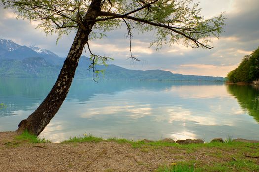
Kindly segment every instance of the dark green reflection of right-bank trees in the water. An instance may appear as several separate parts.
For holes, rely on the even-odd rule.
[[[259,90],[252,86],[228,85],[227,90],[237,98],[242,108],[259,122]]]

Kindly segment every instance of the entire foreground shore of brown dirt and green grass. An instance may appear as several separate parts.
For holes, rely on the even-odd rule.
[[[166,172],[163,169],[174,167],[192,167],[195,172],[259,171],[259,141],[246,139],[180,144],[170,139],[133,142],[88,135],[50,143],[16,136],[0,132],[0,171]]]

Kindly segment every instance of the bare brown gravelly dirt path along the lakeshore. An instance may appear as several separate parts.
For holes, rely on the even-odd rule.
[[[235,150],[202,148],[195,152],[177,147],[143,146],[115,142],[12,143],[14,132],[0,132],[0,172],[151,172],[161,164],[198,160],[231,161]],[[209,156],[213,153],[226,156]]]

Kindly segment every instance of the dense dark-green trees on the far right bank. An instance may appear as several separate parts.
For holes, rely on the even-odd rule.
[[[227,74],[230,82],[250,83],[259,78],[259,47],[250,55],[244,56],[239,66]]]

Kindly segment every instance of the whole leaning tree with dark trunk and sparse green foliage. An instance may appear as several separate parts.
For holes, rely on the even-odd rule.
[[[154,31],[156,39],[151,45],[157,49],[163,44],[182,41],[186,46],[213,48],[213,37],[218,38],[224,25],[220,14],[204,19],[198,4],[192,0],[1,0],[18,17],[39,21],[37,28],[47,34],[63,34],[76,30],[74,42],[60,71],[56,83],[39,107],[18,125],[18,131],[28,130],[39,135],[59,110],[69,91],[79,58],[87,45],[93,72],[95,65],[109,59],[92,53],[90,40],[102,38],[106,31],[125,25],[129,38],[130,57],[132,29],[140,33]],[[57,39],[57,40],[58,40]]]

